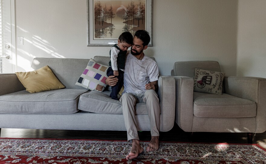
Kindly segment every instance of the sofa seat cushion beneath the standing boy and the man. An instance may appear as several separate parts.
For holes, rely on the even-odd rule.
[[[121,102],[111,99],[109,95],[109,91],[97,92],[92,90],[83,93],[79,98],[78,109],[99,114],[123,114]],[[135,108],[136,114],[148,114],[146,103],[137,103]]]

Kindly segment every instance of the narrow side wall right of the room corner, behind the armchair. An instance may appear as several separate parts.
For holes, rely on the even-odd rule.
[[[266,78],[266,1],[238,3],[237,75]]]

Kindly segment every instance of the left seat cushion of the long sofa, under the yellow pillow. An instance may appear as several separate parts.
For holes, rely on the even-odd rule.
[[[0,113],[76,113],[78,99],[86,89],[58,89],[29,93],[22,90],[0,96]]]

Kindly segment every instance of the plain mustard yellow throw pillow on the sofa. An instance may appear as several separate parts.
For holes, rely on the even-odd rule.
[[[61,89],[65,87],[48,66],[44,66],[38,70],[30,72],[15,72],[15,74],[26,90],[30,93]]]

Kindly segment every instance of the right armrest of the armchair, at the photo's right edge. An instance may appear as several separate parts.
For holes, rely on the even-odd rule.
[[[257,129],[266,130],[266,79],[260,77],[226,76],[223,80],[226,94],[254,101],[257,105]]]

